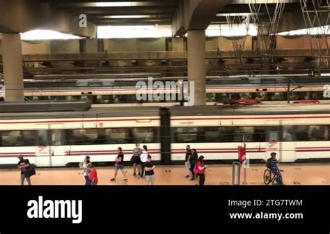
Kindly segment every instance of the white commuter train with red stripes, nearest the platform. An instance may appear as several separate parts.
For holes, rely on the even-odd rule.
[[[88,111],[0,113],[0,164],[17,156],[36,166],[68,166],[90,155],[113,162],[118,146],[125,161],[134,143],[146,144],[154,161],[184,160],[185,146],[206,160],[235,160],[246,141],[246,156],[265,160],[275,151],[281,162],[330,158],[328,104],[256,105],[219,108],[91,108]]]

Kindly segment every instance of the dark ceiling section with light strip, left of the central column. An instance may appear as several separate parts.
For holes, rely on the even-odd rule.
[[[100,25],[172,24],[179,0],[46,0],[52,7],[72,15],[87,15]]]

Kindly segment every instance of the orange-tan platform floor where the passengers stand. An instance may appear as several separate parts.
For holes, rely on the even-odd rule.
[[[330,164],[281,164],[285,185],[330,185]],[[247,169],[248,185],[265,185],[263,173],[265,164],[252,164]],[[205,173],[205,185],[232,185],[232,165],[210,165]],[[84,185],[84,175],[79,168],[36,169],[37,175],[31,179],[33,185]],[[123,182],[123,175],[118,171],[116,182],[111,182],[114,167],[99,167],[97,174],[99,185],[144,185],[139,176],[133,176],[132,166],[126,166],[128,182]],[[196,185],[198,180],[191,181],[182,166],[157,166],[155,170],[156,185]],[[243,183],[243,169],[241,180]],[[19,185],[19,171],[16,169],[0,170],[0,185]]]

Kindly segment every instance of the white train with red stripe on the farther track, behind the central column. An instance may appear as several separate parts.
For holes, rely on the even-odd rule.
[[[100,79],[87,79],[88,77]],[[82,79],[82,77],[86,79]],[[120,106],[157,106],[159,102],[145,100],[136,102],[137,82],[147,78],[121,77],[104,79],[107,75],[41,75],[24,81],[26,100],[86,100],[95,107]],[[78,79],[81,78],[81,79]],[[102,79],[101,79],[102,78]],[[155,77],[153,81],[186,81],[187,77]],[[321,100],[329,102],[324,95],[325,87],[330,82],[329,74],[311,77],[308,74],[285,75],[235,75],[229,77],[211,76],[206,78],[207,104],[226,102],[228,100],[256,99],[263,102],[285,103],[290,81],[290,100]],[[161,88],[157,92],[161,92]],[[155,89],[156,89],[155,88]],[[175,92],[178,93],[177,87]],[[163,90],[164,93],[168,91]],[[163,107],[173,106],[175,102],[162,102]]]

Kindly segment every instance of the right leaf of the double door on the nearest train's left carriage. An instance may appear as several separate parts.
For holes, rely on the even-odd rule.
[[[67,146],[65,146],[65,130],[63,124],[49,125],[49,138],[51,141],[52,165],[65,166]]]

